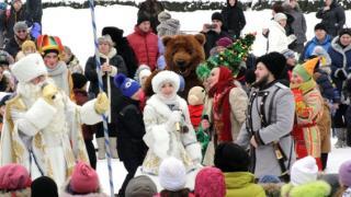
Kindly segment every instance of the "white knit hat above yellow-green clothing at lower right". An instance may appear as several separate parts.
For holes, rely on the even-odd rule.
[[[297,160],[291,172],[291,183],[294,186],[307,184],[317,181],[318,166],[316,159],[308,155],[301,160]]]

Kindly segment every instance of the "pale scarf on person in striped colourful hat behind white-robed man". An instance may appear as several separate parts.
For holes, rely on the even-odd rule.
[[[65,91],[67,96],[70,96],[70,88],[68,80],[68,69],[64,61],[58,61],[54,69],[47,68],[48,77],[50,77],[55,84]]]

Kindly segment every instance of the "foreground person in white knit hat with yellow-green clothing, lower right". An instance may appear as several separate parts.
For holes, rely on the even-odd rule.
[[[282,197],[321,197],[329,196],[330,185],[317,181],[318,166],[313,157],[296,161],[291,170],[291,183],[283,185]]]

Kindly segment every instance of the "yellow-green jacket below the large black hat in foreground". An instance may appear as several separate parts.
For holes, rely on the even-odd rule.
[[[265,197],[262,186],[253,183],[254,176],[249,172],[224,173],[227,197]]]

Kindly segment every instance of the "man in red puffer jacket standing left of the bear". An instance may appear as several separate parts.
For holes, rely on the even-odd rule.
[[[133,48],[138,66],[147,65],[151,71],[156,69],[158,50],[158,36],[152,33],[150,19],[139,15],[134,33],[127,36],[128,43]]]

